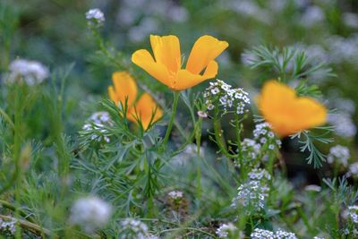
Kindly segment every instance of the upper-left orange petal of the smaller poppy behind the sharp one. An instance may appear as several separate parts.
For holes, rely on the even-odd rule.
[[[115,85],[115,90],[111,90],[110,97],[111,94],[112,96],[115,94],[116,103],[121,101],[123,105],[125,103],[125,98],[128,98],[127,104],[129,107],[132,106],[132,103],[135,101],[138,94],[137,84],[132,76],[127,72],[116,72],[112,74],[112,81]]]

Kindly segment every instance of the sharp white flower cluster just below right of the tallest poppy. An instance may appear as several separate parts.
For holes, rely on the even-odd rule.
[[[204,92],[205,104],[209,110],[215,106],[224,107],[226,113],[227,109],[235,107],[235,112],[239,115],[243,115],[244,107],[250,104],[248,95],[242,88],[232,89],[231,85],[220,80],[210,82],[209,88]]]

